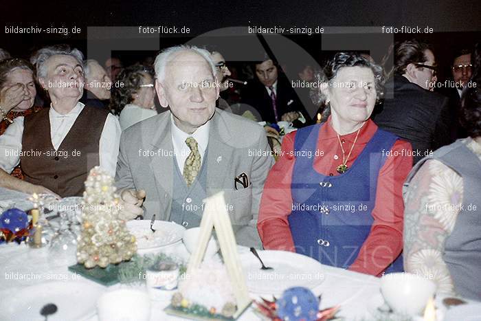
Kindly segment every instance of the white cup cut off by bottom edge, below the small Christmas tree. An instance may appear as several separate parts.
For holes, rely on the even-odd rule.
[[[98,299],[97,314],[99,321],[148,321],[150,298],[136,289],[109,291]]]

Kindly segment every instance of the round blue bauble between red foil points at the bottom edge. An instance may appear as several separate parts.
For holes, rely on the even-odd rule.
[[[310,289],[291,287],[276,302],[277,314],[282,320],[311,321],[317,319],[319,300]]]

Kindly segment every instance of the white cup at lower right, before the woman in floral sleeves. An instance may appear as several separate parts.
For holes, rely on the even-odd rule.
[[[385,274],[381,279],[381,293],[394,312],[420,316],[429,298],[436,293],[436,284],[417,274]]]

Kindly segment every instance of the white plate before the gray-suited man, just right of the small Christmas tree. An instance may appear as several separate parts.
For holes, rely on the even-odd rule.
[[[177,243],[181,241],[183,231],[182,225],[174,222],[155,221],[153,229],[150,230],[150,220],[133,220],[127,222],[128,230],[137,239],[137,250],[153,249]]]

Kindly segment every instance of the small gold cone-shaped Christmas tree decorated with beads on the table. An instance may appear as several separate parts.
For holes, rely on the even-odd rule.
[[[130,260],[137,250],[135,236],[128,232],[126,222],[120,218],[113,178],[98,166],[90,170],[85,181],[82,208],[78,263],[91,268]]]

